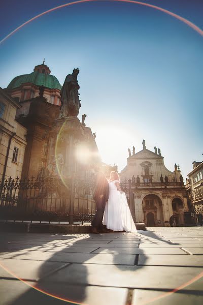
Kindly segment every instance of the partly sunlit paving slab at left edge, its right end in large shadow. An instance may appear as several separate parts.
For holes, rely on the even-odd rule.
[[[40,278],[49,274],[49,272],[56,270],[57,268],[65,265],[61,262],[44,262],[44,261],[31,261],[31,260],[16,260],[16,259],[0,259],[0,276],[6,277],[4,267],[8,271],[14,273],[9,277],[13,278],[17,276],[21,279],[38,281]],[[6,275],[5,275],[6,273]]]

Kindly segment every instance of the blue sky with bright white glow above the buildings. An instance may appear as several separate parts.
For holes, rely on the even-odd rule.
[[[201,0],[142,1],[172,11],[203,29]],[[0,39],[63,0],[1,5]],[[128,147],[160,147],[165,165],[184,178],[201,161],[203,37],[152,8],[116,2],[77,4],[27,24],[0,45],[0,86],[45,64],[62,84],[80,68],[87,126],[104,162],[126,165]]]

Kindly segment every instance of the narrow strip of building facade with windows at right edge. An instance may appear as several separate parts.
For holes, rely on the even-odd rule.
[[[187,192],[196,214],[203,214],[203,162],[193,163],[193,170],[188,174]]]

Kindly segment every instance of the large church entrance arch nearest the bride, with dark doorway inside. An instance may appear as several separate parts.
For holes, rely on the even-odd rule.
[[[163,204],[161,199],[154,194],[143,198],[144,221],[147,227],[164,226]]]

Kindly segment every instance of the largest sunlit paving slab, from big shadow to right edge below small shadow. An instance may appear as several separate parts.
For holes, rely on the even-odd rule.
[[[74,285],[175,289],[201,271],[200,267],[71,264],[44,278],[44,281]]]

